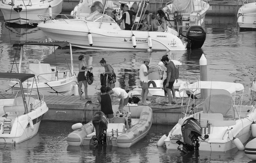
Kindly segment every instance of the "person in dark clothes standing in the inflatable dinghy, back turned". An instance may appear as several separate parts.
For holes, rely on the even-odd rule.
[[[100,110],[104,112],[104,114],[107,116],[109,123],[113,123],[113,109],[112,109],[112,100],[111,96],[106,93],[107,87],[103,85],[100,88],[101,95],[98,96],[98,101],[100,103]]]

